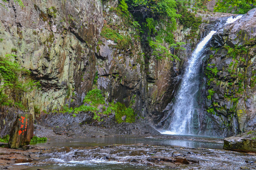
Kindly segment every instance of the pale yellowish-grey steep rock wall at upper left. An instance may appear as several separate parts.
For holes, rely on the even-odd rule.
[[[9,0],[0,7],[0,55],[14,53],[32,72],[41,90],[26,94],[28,110],[53,110],[81,103],[91,90],[98,36],[103,26],[97,0],[24,0],[21,8]]]

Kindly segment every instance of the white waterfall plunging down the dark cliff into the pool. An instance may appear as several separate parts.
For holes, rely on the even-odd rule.
[[[242,16],[237,16],[235,18],[229,17],[225,25],[233,23],[241,17]],[[207,42],[210,41],[212,35],[216,32],[217,31],[210,31],[210,33],[197,45],[191,58],[188,60],[188,65],[185,69],[181,85],[175,97],[174,105],[172,109],[169,110],[172,112],[171,124],[166,131],[161,132],[162,134],[194,134],[193,119],[197,119],[196,121],[199,124],[198,113],[196,113],[196,108],[198,108],[196,95],[200,87],[202,54],[206,50],[205,46]]]

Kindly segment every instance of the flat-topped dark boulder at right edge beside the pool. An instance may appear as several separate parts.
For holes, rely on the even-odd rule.
[[[231,136],[224,139],[223,149],[256,153],[256,140],[246,137]]]

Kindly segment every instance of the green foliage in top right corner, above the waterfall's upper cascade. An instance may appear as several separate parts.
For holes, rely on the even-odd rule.
[[[215,12],[245,14],[255,8],[255,0],[217,0]]]

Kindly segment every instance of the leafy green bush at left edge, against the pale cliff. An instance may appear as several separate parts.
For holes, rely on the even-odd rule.
[[[21,103],[24,93],[31,92],[40,84],[30,78],[30,71],[21,68],[14,58],[14,54],[0,57],[0,106],[18,106],[25,109]],[[14,61],[13,61],[14,60]]]

